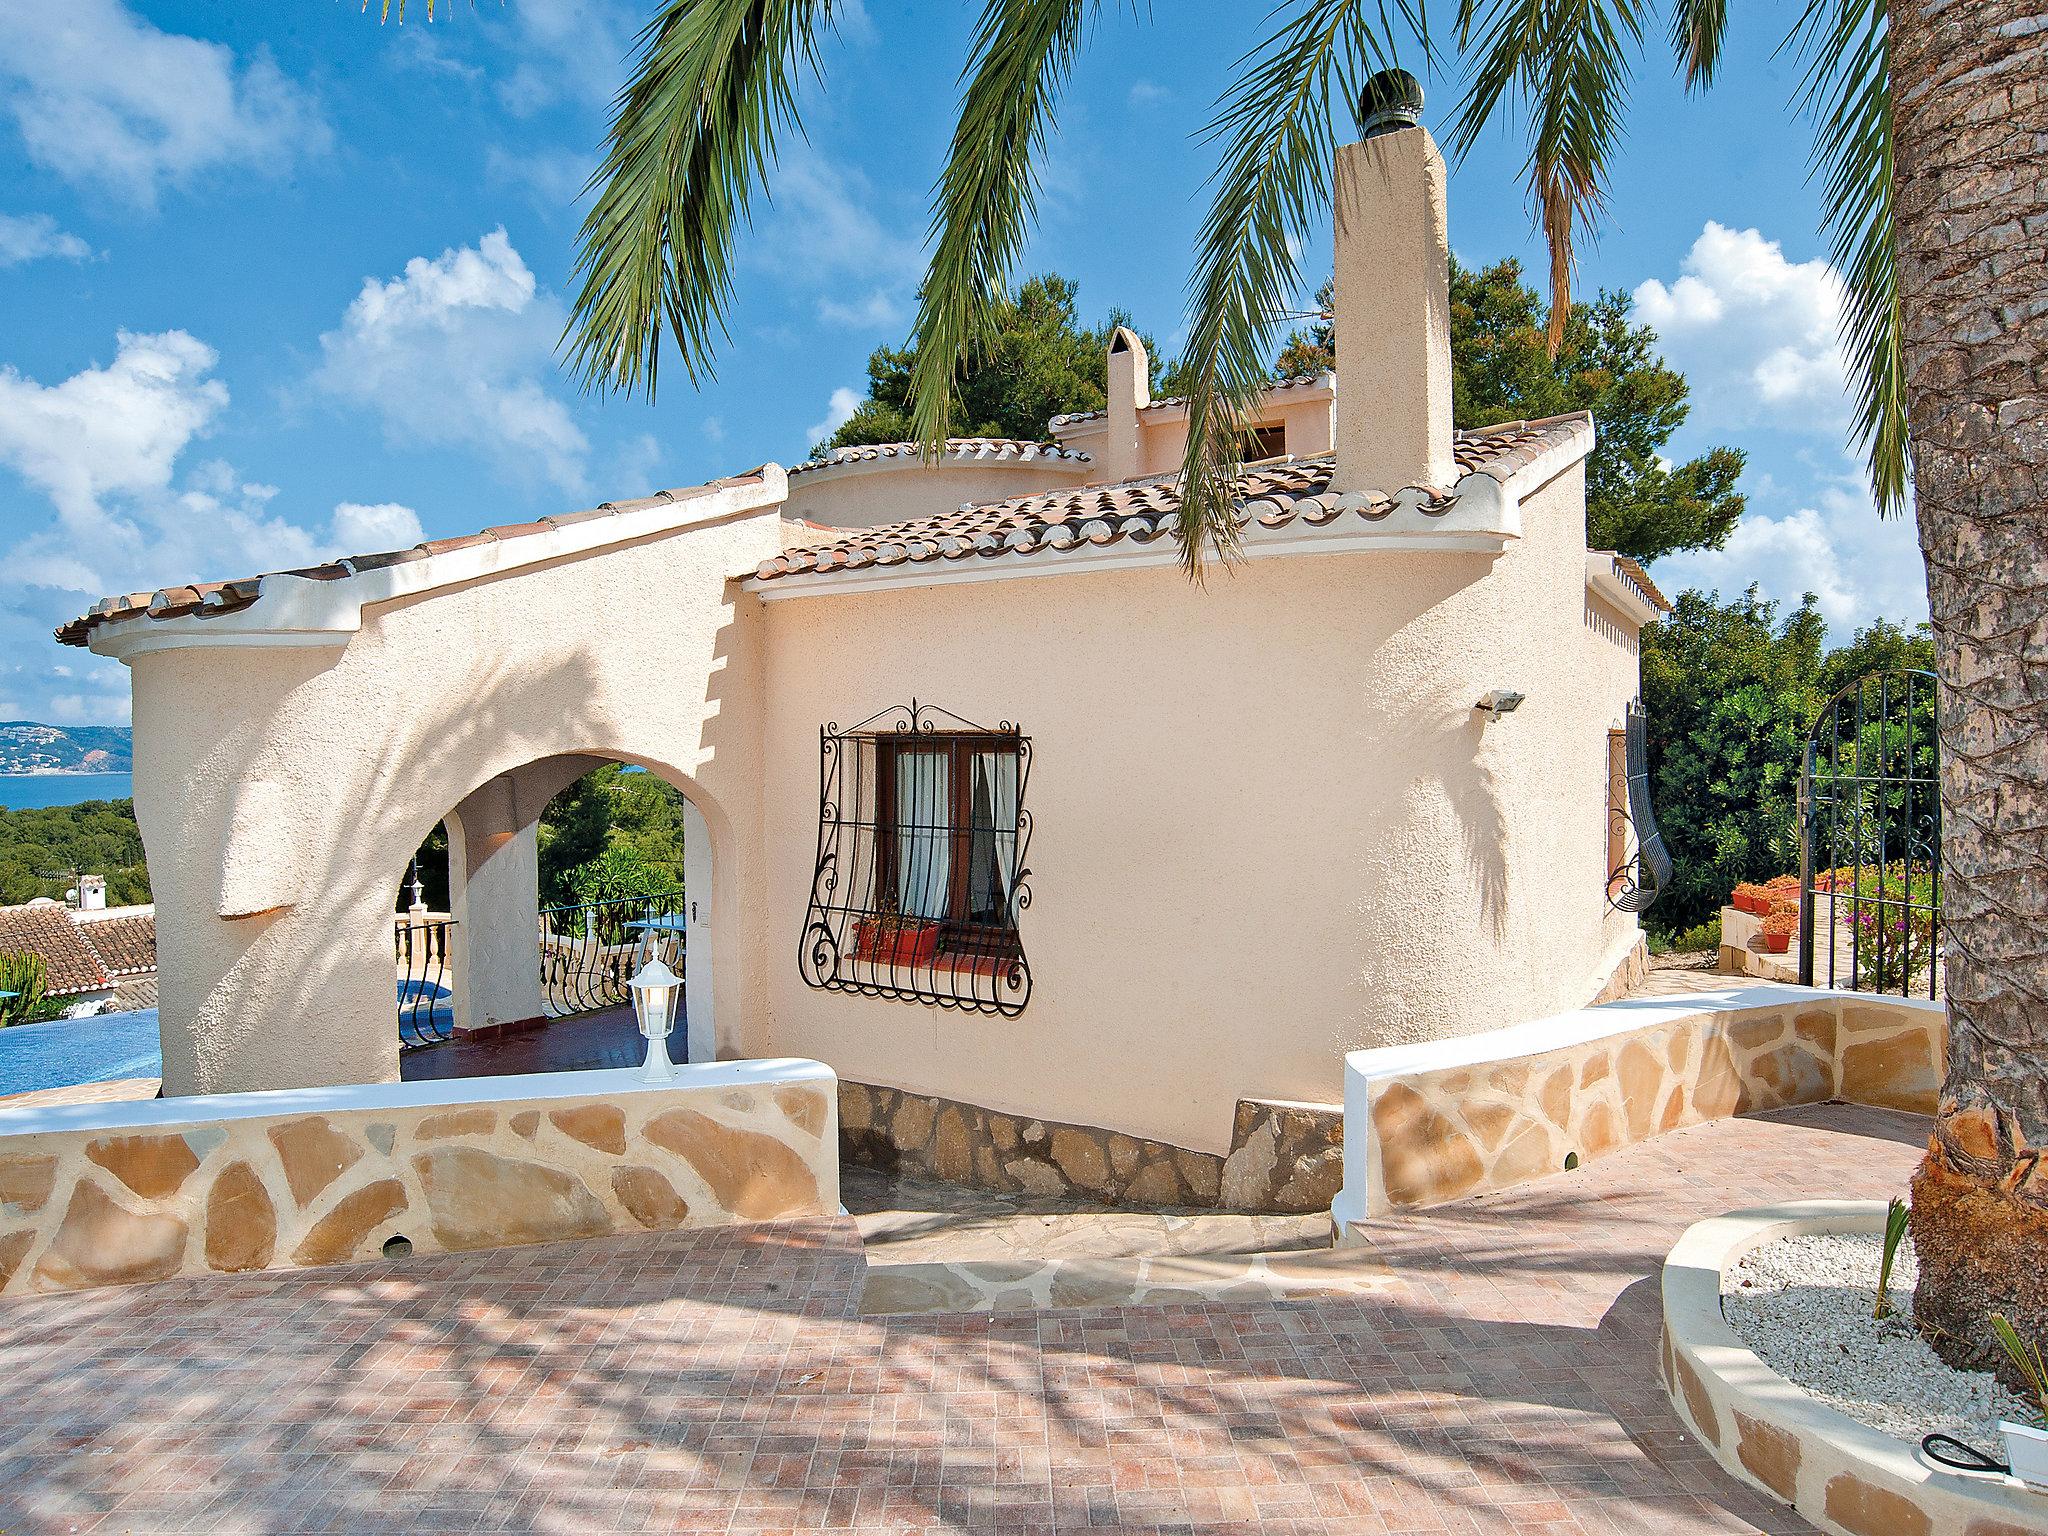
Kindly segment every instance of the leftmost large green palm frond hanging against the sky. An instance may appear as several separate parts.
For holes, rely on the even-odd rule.
[[[831,0],[668,0],[647,23],[578,236],[563,342],[588,387],[651,397],[664,328],[690,379],[711,375],[733,238],[829,20]]]

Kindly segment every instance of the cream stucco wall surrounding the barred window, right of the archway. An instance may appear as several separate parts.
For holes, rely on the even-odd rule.
[[[1206,1151],[1237,1098],[1337,1102],[1343,1055],[1585,1004],[1606,733],[1581,469],[1477,553],[973,582],[766,608],[766,1034],[848,1079]],[[1473,702],[1528,702],[1483,723]],[[1034,741],[1016,1020],[813,991],[817,731],[911,696]]]

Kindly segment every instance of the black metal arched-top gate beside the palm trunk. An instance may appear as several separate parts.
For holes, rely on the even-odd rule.
[[[1931,672],[1874,672],[1821,711],[1800,764],[1798,979],[1942,991],[1942,737]]]

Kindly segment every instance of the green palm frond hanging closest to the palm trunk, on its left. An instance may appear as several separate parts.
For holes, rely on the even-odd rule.
[[[1882,0],[1806,0],[1792,33],[1815,115],[1812,168],[1829,252],[1845,287],[1843,346],[1855,373],[1855,442],[1882,516],[1911,481],[1905,340],[1892,217],[1892,72]]]

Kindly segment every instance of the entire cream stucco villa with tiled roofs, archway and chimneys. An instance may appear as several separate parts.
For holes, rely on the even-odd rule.
[[[455,1026],[541,1016],[537,821],[625,760],[690,805],[692,1061],[825,1061],[858,1145],[946,1178],[1327,1206],[1346,1053],[1640,956],[1624,745],[1665,604],[1585,547],[1587,416],[1452,428],[1444,217],[1427,135],[1339,156],[1337,369],[1268,391],[1202,582],[1186,414],[1118,330],[1108,408],[1049,442],[66,625],[133,674],[164,1092],[395,1079],[391,893],[442,819]],[[1255,1137],[1298,1147],[1225,1190]]]

